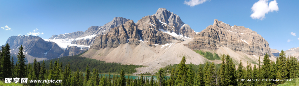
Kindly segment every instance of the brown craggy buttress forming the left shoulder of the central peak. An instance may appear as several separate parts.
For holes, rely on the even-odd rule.
[[[135,23],[129,20],[124,25],[112,28],[107,34],[96,37],[90,49],[116,48],[125,43],[136,46],[140,43],[138,40],[140,37]]]

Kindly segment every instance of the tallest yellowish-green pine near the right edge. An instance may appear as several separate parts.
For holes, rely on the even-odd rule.
[[[277,64],[277,72],[276,72],[276,79],[288,79],[288,70],[286,65],[286,53],[281,50],[279,57],[276,60]],[[283,84],[284,82],[277,81],[277,84]]]

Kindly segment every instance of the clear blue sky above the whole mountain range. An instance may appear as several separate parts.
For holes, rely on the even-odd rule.
[[[184,0],[1,0],[0,44],[4,45],[10,36],[18,34],[48,39],[54,34],[85,31],[90,26],[102,26],[114,17],[137,22],[144,16],[154,14],[158,8],[166,8],[179,15],[196,32],[218,19],[229,25],[244,26],[256,31],[268,41],[270,48],[288,50],[299,47],[299,34],[296,34],[299,33],[299,1],[276,0],[276,5],[271,4],[273,0],[264,0],[265,5],[261,0],[254,6],[258,1],[193,0],[187,4]],[[254,13],[251,8],[254,7],[257,8],[255,12],[262,13],[251,17]],[[264,18],[258,18],[263,16],[263,12],[268,13]]]

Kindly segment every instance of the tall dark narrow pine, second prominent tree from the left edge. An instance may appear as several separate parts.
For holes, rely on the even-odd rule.
[[[26,69],[25,69],[25,55],[24,55],[24,48],[23,46],[21,45],[19,47],[19,52],[18,52],[18,55],[17,55],[17,65],[16,65],[16,77],[25,77],[26,76]]]

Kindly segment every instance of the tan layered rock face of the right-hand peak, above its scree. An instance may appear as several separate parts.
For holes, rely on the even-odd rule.
[[[213,25],[196,34],[193,41],[185,44],[190,49],[217,50],[227,47],[248,55],[273,56],[269,43],[257,32],[243,26],[231,26],[215,19]]]

